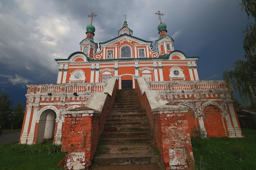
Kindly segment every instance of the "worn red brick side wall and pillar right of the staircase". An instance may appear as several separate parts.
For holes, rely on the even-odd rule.
[[[146,109],[157,148],[161,154],[161,161],[166,170],[170,170],[170,167],[171,169],[190,168],[189,163],[193,163],[194,158],[187,114],[183,111],[153,114],[146,93],[142,95],[137,81],[135,83],[141,106]]]

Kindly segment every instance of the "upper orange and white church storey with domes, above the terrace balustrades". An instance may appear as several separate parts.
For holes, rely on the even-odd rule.
[[[132,35],[126,15],[118,36],[99,43],[94,42],[95,27],[86,27],[86,38],[80,42],[80,52],[70,54],[67,59],[55,59],[59,65],[57,83],[105,83],[118,77],[119,89],[135,88],[135,76],[146,81],[198,81],[196,61],[198,57],[187,57],[174,50],[173,39],[167,35],[166,24],[158,12],[159,39],[155,41],[157,52],[152,50],[152,41]]]

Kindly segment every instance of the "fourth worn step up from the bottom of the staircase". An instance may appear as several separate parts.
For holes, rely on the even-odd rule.
[[[150,137],[150,132],[141,131],[141,132],[108,132],[103,133],[101,137],[106,138],[124,138],[124,137]]]

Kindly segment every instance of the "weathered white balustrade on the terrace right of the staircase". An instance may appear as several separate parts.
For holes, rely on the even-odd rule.
[[[226,90],[225,81],[152,81],[148,83],[152,90],[180,91],[180,90]]]

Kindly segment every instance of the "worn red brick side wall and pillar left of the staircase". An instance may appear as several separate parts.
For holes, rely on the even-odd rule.
[[[93,116],[83,116],[81,113],[72,113],[65,115],[65,122],[63,122],[62,129],[62,148],[66,153],[66,160],[70,157],[76,157],[73,162],[69,164],[79,165],[85,163],[85,166],[90,166],[94,153],[96,152],[98,140],[104,130],[104,123],[108,111],[112,108],[115,100],[115,94],[118,89],[116,81],[112,96],[107,95],[100,115],[94,113]],[[85,111],[86,112],[86,111]],[[85,158],[83,159],[83,153]],[[77,156],[76,156],[77,155]],[[72,160],[71,160],[72,161]]]

